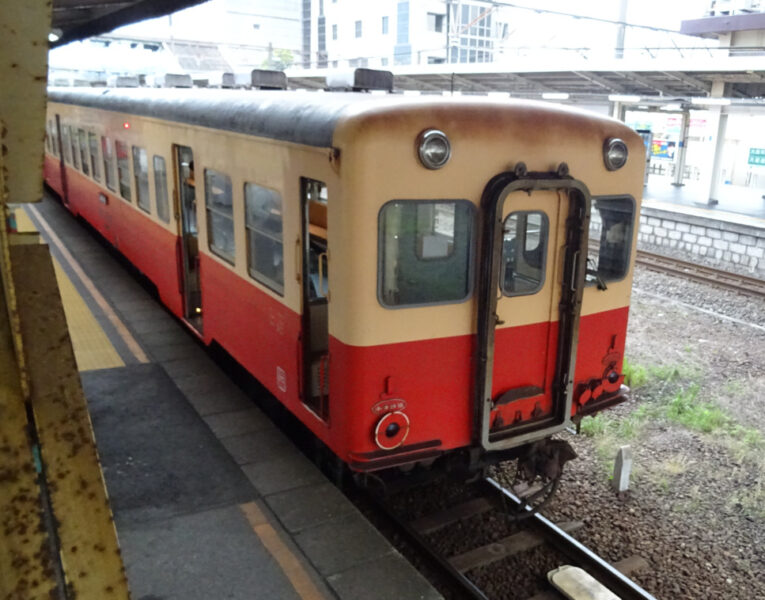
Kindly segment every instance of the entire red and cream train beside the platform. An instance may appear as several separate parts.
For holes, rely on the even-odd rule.
[[[44,179],[352,472],[534,478],[626,397],[643,154],[541,101],[51,88]]]

